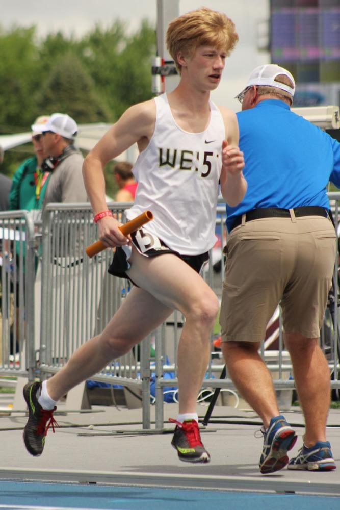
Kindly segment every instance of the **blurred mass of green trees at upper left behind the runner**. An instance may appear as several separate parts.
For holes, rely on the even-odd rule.
[[[108,29],[96,25],[81,39],[58,32],[38,40],[35,27],[5,32],[0,25],[0,134],[29,131],[38,115],[54,111],[79,123],[114,122],[152,97],[155,46],[147,21],[133,34],[119,20]],[[31,155],[32,144],[6,151],[1,171],[12,175]]]

